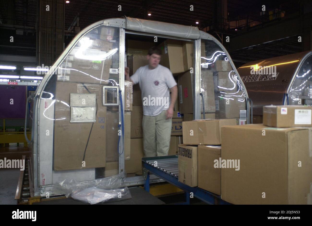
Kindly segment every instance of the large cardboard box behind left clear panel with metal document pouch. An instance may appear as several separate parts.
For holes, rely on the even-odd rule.
[[[88,94],[86,88],[96,94],[96,122],[70,123],[70,94]],[[59,101],[54,104],[54,118],[63,119],[54,120],[54,170],[105,167],[106,106],[102,103],[102,85],[56,82],[55,98]],[[82,166],[82,161],[85,161],[85,166]]]

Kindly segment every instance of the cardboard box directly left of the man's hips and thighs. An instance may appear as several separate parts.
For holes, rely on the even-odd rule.
[[[142,106],[133,106],[131,112],[131,138],[143,137],[142,119],[143,119]]]

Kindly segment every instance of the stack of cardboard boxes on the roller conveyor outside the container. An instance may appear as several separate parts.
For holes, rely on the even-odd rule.
[[[264,124],[219,123],[220,140],[211,137],[216,126],[208,131],[205,123],[183,122],[180,182],[232,204],[312,204],[311,107],[266,106]]]

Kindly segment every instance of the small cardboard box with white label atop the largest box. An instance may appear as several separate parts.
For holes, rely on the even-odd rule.
[[[272,127],[311,127],[312,107],[300,105],[264,106],[263,124]]]

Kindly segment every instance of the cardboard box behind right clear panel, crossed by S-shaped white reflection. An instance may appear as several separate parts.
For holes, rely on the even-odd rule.
[[[215,91],[235,91],[238,84],[234,79],[234,71],[219,71],[213,74],[213,83]]]

